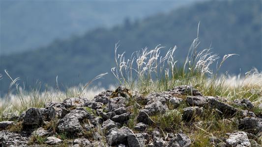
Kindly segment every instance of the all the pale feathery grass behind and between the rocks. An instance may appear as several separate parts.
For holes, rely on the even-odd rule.
[[[151,92],[168,91],[179,85],[191,85],[200,90],[204,96],[223,97],[228,99],[229,103],[234,99],[249,99],[255,104],[255,107],[250,111],[256,115],[262,114],[262,109],[258,107],[262,103],[262,72],[252,69],[245,75],[219,74],[224,62],[235,54],[227,54],[220,59],[218,54],[211,52],[211,48],[198,51],[199,44],[200,40],[197,36],[182,66],[178,66],[178,61],[175,58],[176,46],[168,49],[163,56],[161,56],[161,51],[164,50],[164,47],[157,46],[155,49],[146,48],[134,52],[127,59],[124,53],[117,54],[119,45],[116,44],[116,67],[112,68],[111,71],[119,85],[137,91],[139,94],[146,95]],[[211,69],[211,67],[214,67],[212,65],[217,65],[215,70]],[[7,72],[6,74],[12,81],[10,89],[15,87],[16,94],[13,95],[10,90],[6,97],[0,100],[0,116],[6,112],[21,114],[29,107],[44,107],[46,102],[62,101],[65,98],[85,97],[91,99],[99,92],[104,91],[103,88],[97,87],[87,89],[90,82],[101,78],[104,74],[98,75],[86,85],[66,88],[65,91],[61,91],[58,86],[57,89],[50,89],[47,86],[42,87],[40,85],[31,88],[30,91],[25,91],[17,84],[19,78],[12,79]],[[184,96],[181,98],[185,99]],[[141,109],[138,103],[142,107],[145,105],[145,103],[136,101],[132,97],[129,98],[127,103],[127,106],[133,106],[129,110],[131,113],[130,120],[126,124],[130,129],[133,129],[137,123],[136,118],[139,109]],[[169,105],[169,111],[151,117],[155,124],[148,126],[146,131],[149,133],[154,128],[158,128],[163,137],[167,132],[182,131],[190,137],[193,147],[204,147],[209,146],[209,138],[224,137],[225,133],[238,129],[234,120],[224,120],[223,116],[219,116],[216,111],[208,108],[204,109],[204,116],[197,116],[189,122],[183,121],[181,113],[185,107],[188,107],[185,101],[175,109]],[[92,109],[86,107],[86,110],[94,116],[96,115]],[[2,117],[0,117],[0,121],[2,120]],[[56,120],[53,120],[44,127],[56,132],[56,123]],[[9,130],[19,132],[21,124],[12,125]],[[101,139],[96,138],[95,133],[98,133]],[[94,129],[84,131],[82,134],[87,138],[92,136],[94,141],[99,141],[102,145],[107,146],[105,132],[101,130],[101,124],[98,122]],[[57,134],[57,137],[62,140],[68,139],[66,132]],[[262,138],[259,136],[256,138],[258,143],[261,143],[261,140]],[[44,138],[33,137],[32,142],[36,141],[41,143]]]

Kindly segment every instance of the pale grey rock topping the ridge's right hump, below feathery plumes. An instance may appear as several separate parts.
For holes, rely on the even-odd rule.
[[[177,95],[202,96],[199,90],[193,88],[190,85],[175,86],[175,88],[169,92],[173,96],[177,96]]]

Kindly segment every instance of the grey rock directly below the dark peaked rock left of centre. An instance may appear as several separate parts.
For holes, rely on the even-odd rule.
[[[110,98],[106,106],[106,110],[108,112],[115,111],[120,107],[125,107],[126,103],[127,103],[127,99],[123,97]]]

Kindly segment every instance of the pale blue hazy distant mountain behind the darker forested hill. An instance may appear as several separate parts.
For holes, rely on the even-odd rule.
[[[134,21],[193,2],[1,0],[1,50],[22,52],[97,26]]]

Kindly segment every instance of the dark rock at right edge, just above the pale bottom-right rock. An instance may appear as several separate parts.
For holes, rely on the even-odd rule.
[[[257,134],[262,131],[262,122],[255,117],[245,117],[239,120],[238,128],[252,134]]]

